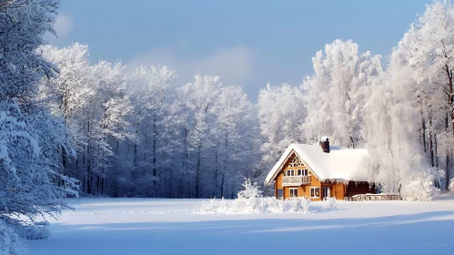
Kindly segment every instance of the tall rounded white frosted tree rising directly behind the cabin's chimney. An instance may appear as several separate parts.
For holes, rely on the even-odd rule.
[[[363,107],[371,81],[381,71],[381,56],[358,53],[351,40],[336,40],[312,58],[315,74],[303,81],[308,117],[303,127],[309,141],[328,136],[333,144],[358,147]]]

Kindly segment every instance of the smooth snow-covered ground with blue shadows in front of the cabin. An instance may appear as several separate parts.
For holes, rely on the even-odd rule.
[[[312,214],[195,214],[201,199],[80,199],[30,254],[454,254],[454,197]]]

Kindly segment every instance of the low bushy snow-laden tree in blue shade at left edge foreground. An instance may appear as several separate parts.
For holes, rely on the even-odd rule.
[[[23,225],[38,215],[57,216],[68,208],[66,195],[76,195],[75,180],[54,165],[55,128],[50,115],[25,114],[15,100],[0,104],[1,220]]]

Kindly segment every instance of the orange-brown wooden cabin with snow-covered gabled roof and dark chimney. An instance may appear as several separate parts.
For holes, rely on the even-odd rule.
[[[367,158],[367,149],[330,146],[328,138],[314,145],[291,144],[269,171],[266,184],[274,182],[275,196],[282,199],[375,194],[368,183]]]

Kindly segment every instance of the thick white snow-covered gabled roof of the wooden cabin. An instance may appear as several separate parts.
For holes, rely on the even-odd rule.
[[[329,146],[329,150],[329,153],[323,152],[318,144],[291,144],[269,171],[266,183],[269,184],[276,178],[293,152],[322,181],[327,179],[368,181],[366,148]]]

